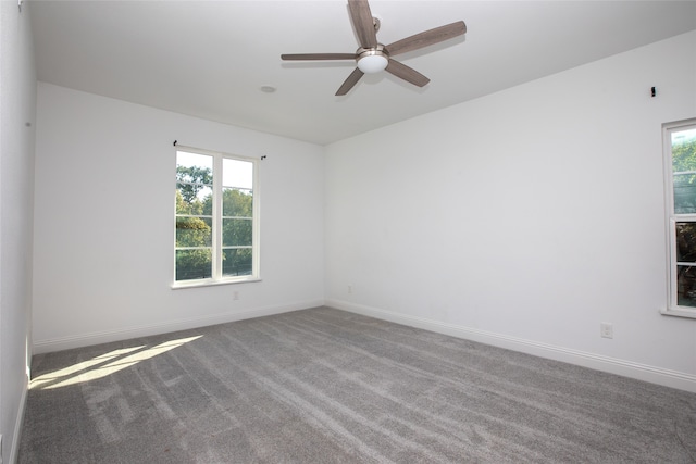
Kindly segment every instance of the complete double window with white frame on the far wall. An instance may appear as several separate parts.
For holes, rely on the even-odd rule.
[[[257,161],[176,151],[174,287],[259,278]]]

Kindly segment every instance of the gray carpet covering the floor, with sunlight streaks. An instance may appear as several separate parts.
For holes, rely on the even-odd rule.
[[[327,308],[33,377],[20,463],[696,462],[696,394]]]

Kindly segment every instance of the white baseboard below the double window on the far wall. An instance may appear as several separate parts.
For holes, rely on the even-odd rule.
[[[124,329],[103,330],[91,334],[75,335],[69,337],[52,338],[34,341],[34,354],[51,353],[54,351],[70,350],[72,348],[90,347],[92,344],[108,343],[111,341],[128,340],[130,338],[147,337],[150,335],[167,334],[177,330],[188,330],[215,324],[225,324],[252,317],[270,316],[273,314],[288,313],[291,311],[316,308],[324,304],[324,300],[301,301],[291,304],[254,308],[246,311],[212,314],[202,317],[189,317],[176,321],[167,321],[162,324],[150,324]]]

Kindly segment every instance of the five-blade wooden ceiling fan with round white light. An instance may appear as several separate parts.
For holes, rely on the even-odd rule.
[[[295,53],[281,55],[282,60],[294,61],[356,60],[358,67],[338,88],[336,96],[348,93],[365,73],[378,73],[383,70],[415,86],[423,87],[431,79],[406,64],[393,60],[391,57],[432,46],[452,37],[461,36],[467,32],[464,22],[458,21],[384,46],[377,42],[380,20],[372,17],[368,0],[348,0],[348,9],[360,41],[360,48],[355,53]]]

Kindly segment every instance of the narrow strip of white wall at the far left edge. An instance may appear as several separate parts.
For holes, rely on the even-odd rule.
[[[32,319],[36,70],[29,12],[0,2],[0,434],[16,459]]]

